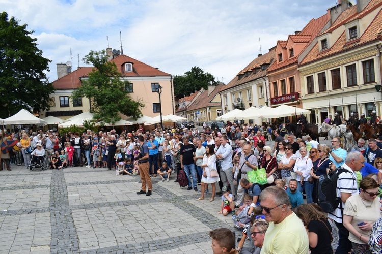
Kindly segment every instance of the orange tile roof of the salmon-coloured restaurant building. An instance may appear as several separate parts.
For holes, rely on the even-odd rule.
[[[289,35],[288,38],[291,38],[292,40],[298,40],[293,42],[299,42],[299,43],[306,43],[304,49],[299,53],[295,54],[294,57],[288,58],[282,62],[275,62],[269,69],[268,73],[274,72],[277,70],[280,70],[284,67],[294,65],[295,63],[298,63],[298,56],[308,47],[308,45],[313,41],[313,39],[317,36],[317,34],[322,30],[322,28],[325,26],[325,24],[328,23],[328,16],[322,15],[321,17],[317,19],[311,19],[309,23],[304,27],[303,30],[301,30],[298,35]],[[309,37],[309,40],[307,40]],[[284,41],[278,41],[278,43],[284,42]],[[281,45],[281,44],[280,44]],[[286,44],[285,44],[286,45]]]

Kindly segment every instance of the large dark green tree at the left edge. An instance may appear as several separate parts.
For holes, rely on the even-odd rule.
[[[54,92],[44,71],[49,59],[42,57],[34,31],[19,25],[15,17],[0,14],[0,117],[24,108],[33,112],[49,110],[49,94]]]

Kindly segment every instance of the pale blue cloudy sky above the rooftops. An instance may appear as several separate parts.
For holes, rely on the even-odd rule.
[[[46,72],[50,82],[57,79],[57,63],[71,61],[72,70],[87,66],[82,59],[91,50],[121,50],[122,41],[125,55],[163,72],[183,75],[197,66],[228,84],[260,52],[287,40],[335,4],[336,0],[0,0],[2,12],[34,31],[43,57],[52,61]]]

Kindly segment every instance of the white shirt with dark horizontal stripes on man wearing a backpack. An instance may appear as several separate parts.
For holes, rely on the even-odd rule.
[[[341,198],[341,193],[350,193],[351,196],[358,194],[357,188],[357,177],[356,172],[353,172],[349,166],[343,164],[342,168],[348,170],[348,172],[342,172],[338,176],[337,181],[337,198]],[[341,201],[342,202],[342,201]],[[342,214],[340,204],[338,204],[337,209],[328,214],[328,217],[336,221],[337,223],[342,223]],[[342,210],[345,208],[345,203],[342,202]]]

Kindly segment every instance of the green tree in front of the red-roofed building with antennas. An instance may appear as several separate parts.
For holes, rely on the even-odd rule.
[[[120,113],[135,119],[142,115],[145,105],[140,100],[134,101],[126,89],[130,84],[121,79],[114,62],[107,62],[105,50],[90,51],[84,62],[94,66],[89,78],[84,79],[82,86],[75,90],[71,99],[87,97],[92,100],[94,119],[112,123],[121,120]]]

